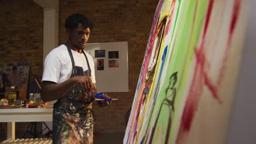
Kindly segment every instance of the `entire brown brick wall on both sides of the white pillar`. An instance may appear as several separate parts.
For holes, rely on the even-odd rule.
[[[30,61],[30,74],[42,76],[43,9],[30,0],[2,0],[0,4],[1,62]],[[125,131],[157,4],[158,0],[60,1],[59,44],[66,42],[64,23],[73,13],[92,20],[89,43],[128,42],[129,92],[108,93],[118,101],[108,107],[94,106],[96,132]]]

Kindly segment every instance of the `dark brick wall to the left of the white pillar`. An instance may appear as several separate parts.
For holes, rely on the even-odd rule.
[[[30,77],[42,75],[43,8],[31,0],[1,0],[0,15],[0,64],[30,61]],[[27,125],[17,123],[16,131]]]

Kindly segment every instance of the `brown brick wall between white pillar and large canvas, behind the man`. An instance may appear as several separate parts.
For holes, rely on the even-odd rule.
[[[72,13],[87,15],[94,28],[89,43],[128,42],[129,92],[108,93],[118,101],[108,107],[94,105],[95,131],[125,131],[125,117],[131,108],[150,28],[158,0],[149,1],[60,1],[59,44],[65,43],[65,19]]]

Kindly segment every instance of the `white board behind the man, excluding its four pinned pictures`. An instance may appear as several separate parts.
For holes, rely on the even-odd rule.
[[[129,92],[128,43],[127,41],[109,43],[90,43],[85,46],[95,63],[96,86],[100,92]],[[105,57],[95,57],[95,50],[104,50]],[[118,51],[119,58],[108,58],[108,52]],[[104,70],[97,70],[97,59],[103,59]],[[110,68],[109,61],[116,60],[119,67]],[[111,81],[111,85],[109,85]]]

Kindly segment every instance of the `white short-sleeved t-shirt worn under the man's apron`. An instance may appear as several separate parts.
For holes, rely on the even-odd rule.
[[[71,50],[75,66],[82,67],[84,71],[88,70],[88,65],[86,58],[83,53],[78,53]],[[85,52],[85,51],[84,51]],[[88,58],[88,62],[91,68],[91,80],[92,83],[96,83],[95,80],[95,69],[94,69],[94,59],[85,52]],[[67,47],[65,45],[60,45],[55,49],[51,50],[44,60],[44,73],[42,81],[53,81],[56,83],[61,83],[68,80],[72,73],[72,62],[69,56]]]

